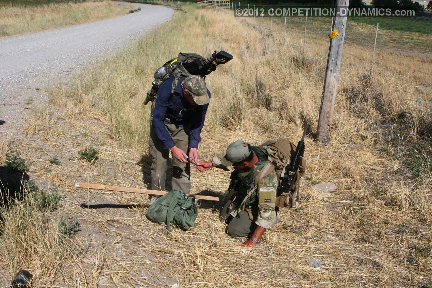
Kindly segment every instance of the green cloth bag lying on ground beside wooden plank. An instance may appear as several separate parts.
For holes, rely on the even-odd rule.
[[[182,191],[171,190],[160,196],[146,211],[150,221],[165,224],[169,234],[170,224],[180,226],[183,230],[195,228],[195,219],[198,216],[194,196],[186,196]]]

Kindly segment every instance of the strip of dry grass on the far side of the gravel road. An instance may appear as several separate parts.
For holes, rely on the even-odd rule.
[[[83,24],[126,14],[131,6],[111,1],[0,7],[0,37]]]

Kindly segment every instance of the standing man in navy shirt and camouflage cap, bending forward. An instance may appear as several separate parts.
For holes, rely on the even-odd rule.
[[[174,78],[162,83],[150,114],[151,189],[165,190],[169,152],[172,153],[172,189],[189,193],[189,161],[199,161],[198,143],[204,125],[210,91],[199,76],[178,80],[173,94]],[[189,160],[189,161],[188,161]],[[152,195],[152,204],[157,195]]]

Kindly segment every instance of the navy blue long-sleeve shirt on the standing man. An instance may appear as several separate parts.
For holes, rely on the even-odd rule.
[[[207,107],[209,104],[193,106],[186,101],[181,89],[181,82],[179,79],[177,86],[174,90],[174,98],[171,98],[171,88],[174,78],[168,79],[159,87],[158,96],[154,109],[152,108],[153,123],[152,129],[155,130],[156,135],[162,141],[165,149],[174,147],[174,142],[170,134],[165,128],[165,123],[173,123],[179,127],[190,127],[189,147],[198,148],[198,143],[201,141],[201,130],[204,126],[206,118]],[[210,97],[210,91],[207,89]],[[165,120],[168,119],[168,120]]]

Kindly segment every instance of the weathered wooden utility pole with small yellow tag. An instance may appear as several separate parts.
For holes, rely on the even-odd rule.
[[[337,81],[339,79],[340,60],[342,58],[343,39],[345,38],[346,28],[347,13],[346,11],[341,12],[341,7],[346,9],[348,5],[349,0],[336,1],[336,14],[333,18],[332,32],[329,34],[330,46],[327,56],[327,70],[325,73],[317,128],[317,140],[320,142],[328,142],[330,139],[330,125],[333,119],[334,102],[336,99]]]

